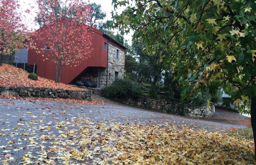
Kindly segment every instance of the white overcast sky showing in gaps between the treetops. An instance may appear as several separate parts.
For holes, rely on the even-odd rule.
[[[83,0],[84,2],[88,2],[87,0]],[[95,2],[96,4],[101,5],[101,10],[105,11],[107,14],[107,17],[103,21],[112,20],[111,11],[114,10],[114,6],[112,6],[112,0],[90,0],[90,3]],[[29,9],[31,11],[32,17],[26,18],[27,24],[30,24],[30,26],[34,26],[34,17],[36,17],[36,13],[34,12],[35,9],[31,8],[30,6],[37,7],[35,0],[20,0],[21,9],[24,11],[26,9]],[[121,13],[123,8],[118,9],[118,13]],[[25,17],[24,17],[25,18]],[[35,28],[35,27],[34,27]],[[124,35],[125,39],[130,40],[129,43],[131,43],[131,34]]]

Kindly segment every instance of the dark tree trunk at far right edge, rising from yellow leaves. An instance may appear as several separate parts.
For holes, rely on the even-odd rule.
[[[256,160],[256,96],[252,97],[252,104],[251,104],[251,124],[253,130],[253,139],[254,139],[254,160]]]

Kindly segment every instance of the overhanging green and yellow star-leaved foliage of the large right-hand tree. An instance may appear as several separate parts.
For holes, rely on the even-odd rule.
[[[251,105],[256,138],[254,0],[113,0],[113,5],[126,6],[120,15],[112,12],[113,25],[134,30],[147,55],[175,74],[185,96],[222,87],[240,110]]]

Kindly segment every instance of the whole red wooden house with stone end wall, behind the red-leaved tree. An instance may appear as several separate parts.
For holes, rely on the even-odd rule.
[[[104,32],[88,27],[93,35],[91,40],[93,51],[89,58],[84,59],[79,65],[64,65],[62,68],[61,82],[72,84],[84,75],[97,77],[97,86],[111,84],[116,78],[123,77],[124,59],[126,48]],[[40,43],[44,48],[45,43]],[[50,53],[50,51],[49,51]],[[37,75],[47,79],[55,79],[55,63],[46,60],[45,56],[28,50],[28,65],[37,65]]]

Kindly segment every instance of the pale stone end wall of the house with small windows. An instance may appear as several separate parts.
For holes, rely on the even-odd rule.
[[[123,78],[124,75],[124,61],[125,52],[118,49],[114,45],[109,43],[109,55],[108,55],[108,73],[107,68],[101,72],[100,87],[112,84],[115,80],[115,73],[118,73],[118,78]],[[116,57],[116,52],[119,50],[119,56]]]

